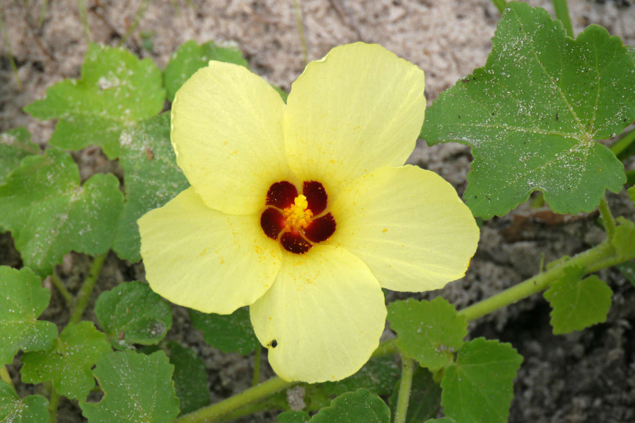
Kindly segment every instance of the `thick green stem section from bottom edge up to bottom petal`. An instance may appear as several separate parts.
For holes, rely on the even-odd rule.
[[[182,415],[181,417],[178,417],[178,419],[173,420],[172,423],[219,422],[222,421],[220,419],[227,413],[234,412],[237,408],[241,408],[244,405],[253,403],[254,401],[262,400],[263,398],[275,394],[286,387],[290,387],[295,383],[297,382],[287,382],[283,381],[279,377],[272,377],[269,381],[263,382],[258,386],[250,387],[249,389],[246,389],[246,391],[220,401],[220,403]]]

